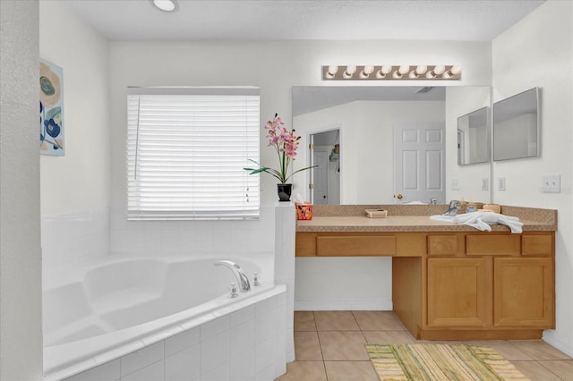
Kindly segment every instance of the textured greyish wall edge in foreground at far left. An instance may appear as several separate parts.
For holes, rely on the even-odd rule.
[[[29,381],[42,377],[38,1],[0,6],[0,379]]]

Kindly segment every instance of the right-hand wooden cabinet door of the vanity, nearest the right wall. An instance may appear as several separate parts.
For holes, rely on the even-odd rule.
[[[553,258],[495,258],[494,326],[554,326]]]

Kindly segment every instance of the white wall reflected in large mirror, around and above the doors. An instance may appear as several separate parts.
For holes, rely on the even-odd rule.
[[[394,202],[394,125],[404,122],[444,123],[443,101],[358,101],[295,116],[301,147],[313,131],[340,128],[340,203],[391,204]],[[308,161],[301,149],[297,160]],[[299,176],[300,189],[308,189],[308,176]],[[308,197],[307,197],[308,198]]]

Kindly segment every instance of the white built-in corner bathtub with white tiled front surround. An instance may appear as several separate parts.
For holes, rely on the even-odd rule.
[[[215,259],[115,258],[44,284],[44,380],[272,380],[286,372],[286,286]],[[252,281],[261,267],[235,260]],[[264,278],[263,278],[264,279]]]

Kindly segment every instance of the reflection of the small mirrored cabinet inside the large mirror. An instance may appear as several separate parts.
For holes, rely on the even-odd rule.
[[[490,157],[489,107],[458,117],[458,165],[487,163]]]

